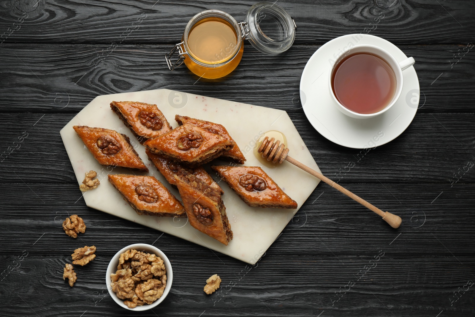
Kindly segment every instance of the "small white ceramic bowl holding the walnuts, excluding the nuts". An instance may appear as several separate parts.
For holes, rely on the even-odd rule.
[[[115,273],[117,271],[117,265],[119,264],[119,258],[120,258],[121,253],[123,253],[127,250],[131,250],[131,249],[135,249],[135,250],[155,254],[157,257],[160,257],[163,260],[163,263],[165,264],[165,269],[167,270],[167,273],[166,273],[166,275],[167,275],[167,285],[165,286],[165,290],[163,291],[163,295],[161,296],[161,298],[154,301],[151,305],[145,304],[143,306],[137,306],[135,308],[129,308],[129,307],[127,307],[127,305],[125,305],[123,303],[124,299],[118,298],[117,295],[115,295],[115,293],[112,291],[112,288],[111,288],[111,282],[112,282],[111,281],[111,274]],[[115,300],[115,302],[119,306],[124,307],[125,309],[135,310],[135,311],[148,310],[148,309],[156,307],[158,304],[160,304],[163,301],[163,299],[165,299],[167,297],[168,293],[170,292],[171,281],[172,280],[173,280],[173,271],[171,270],[171,263],[170,263],[170,260],[165,255],[165,253],[163,253],[160,249],[155,248],[154,246],[152,246],[150,244],[145,244],[145,243],[131,244],[129,246],[126,246],[125,248],[123,248],[119,252],[117,252],[114,255],[114,257],[111,259],[111,261],[109,263],[109,266],[107,267],[107,272],[105,273],[105,284],[107,286],[107,290],[109,291],[109,294],[111,295],[111,297]]]

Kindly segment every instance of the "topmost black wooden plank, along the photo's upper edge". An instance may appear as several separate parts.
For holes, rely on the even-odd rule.
[[[4,1],[0,30],[6,42],[180,42],[188,21],[207,9],[244,20],[255,0],[220,1]],[[295,43],[323,44],[351,33],[374,34],[397,44],[466,44],[472,41],[472,1],[279,1],[297,25]],[[21,19],[21,18],[24,19]]]

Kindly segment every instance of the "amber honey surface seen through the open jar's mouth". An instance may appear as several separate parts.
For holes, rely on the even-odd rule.
[[[236,45],[235,29],[226,20],[217,17],[200,20],[188,36],[190,53],[205,63],[217,64],[227,60]]]

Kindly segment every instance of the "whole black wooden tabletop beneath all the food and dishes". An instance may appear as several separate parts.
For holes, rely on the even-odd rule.
[[[199,11],[242,20],[255,1],[37,1],[0,1],[0,316],[474,314],[474,1],[280,0],[298,26],[293,47],[268,56],[247,43],[236,71],[219,81],[185,67],[170,72],[163,55]],[[156,88],[287,111],[335,179],[359,151],[314,130],[299,82],[317,48],[365,28],[416,59],[425,103],[421,97],[403,134],[366,154],[340,184],[400,215],[398,230],[321,183],[249,269],[85,206],[59,130],[97,95]],[[87,225],[76,240],[61,228],[74,213]],[[174,269],[164,302],[136,314],[114,303],[104,279],[109,259],[134,242],[163,250]],[[97,258],[76,269],[71,288],[64,263],[85,244]],[[204,281],[214,273],[222,287],[207,296]]]

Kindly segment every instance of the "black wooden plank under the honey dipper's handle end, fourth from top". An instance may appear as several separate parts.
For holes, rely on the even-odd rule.
[[[289,219],[268,254],[358,256],[390,247],[392,256],[446,256],[454,265],[459,264],[460,256],[473,254],[475,214],[465,211],[471,210],[475,203],[474,184],[457,184],[453,188],[449,184],[417,183],[350,184],[347,187],[383,211],[399,215],[403,221],[401,227],[390,228],[372,211],[321,184]],[[95,244],[108,250],[105,254],[112,257],[112,250],[133,241],[152,244],[158,239],[156,245],[175,256],[193,252],[213,256],[205,247],[168,234],[161,236],[160,231],[86,207],[76,184],[1,184],[0,190],[4,196],[0,207],[3,228],[0,248],[9,254],[21,254],[24,244],[36,255],[45,251],[67,254],[73,246],[74,250]],[[76,240],[62,229],[62,222],[71,214],[81,216],[87,226],[85,234]],[[25,232],[34,234],[25,235]],[[219,258],[234,261],[221,254]]]

